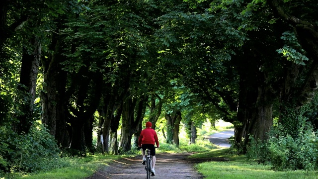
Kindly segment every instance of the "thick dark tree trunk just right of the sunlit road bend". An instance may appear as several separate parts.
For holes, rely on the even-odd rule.
[[[238,57],[240,80],[237,118],[241,124],[235,125],[235,145],[243,153],[246,152],[250,135],[255,140],[268,139],[267,133],[273,124],[272,105],[275,98],[271,87],[265,83],[265,72],[259,70],[263,63],[260,53],[265,52],[259,52],[254,47],[247,50],[242,57]]]

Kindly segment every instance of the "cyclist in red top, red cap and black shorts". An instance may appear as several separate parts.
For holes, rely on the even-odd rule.
[[[155,172],[155,165],[156,165],[156,149],[155,149],[155,143],[157,145],[157,148],[159,147],[159,141],[157,133],[154,129],[151,127],[153,124],[151,122],[146,122],[146,129],[142,130],[138,139],[138,146],[142,148],[141,152],[143,155],[143,165],[146,165],[146,150],[147,148],[150,149],[150,155],[153,156],[152,160],[152,176],[156,175]]]

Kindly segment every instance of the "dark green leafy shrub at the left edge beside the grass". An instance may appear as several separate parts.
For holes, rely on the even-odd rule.
[[[57,143],[43,125],[35,122],[28,134],[6,133],[4,137],[0,148],[0,167],[4,171],[34,172],[58,167]]]

